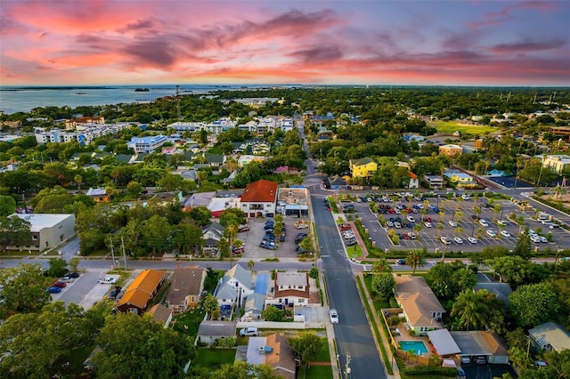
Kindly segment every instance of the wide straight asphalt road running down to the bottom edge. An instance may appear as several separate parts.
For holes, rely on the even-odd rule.
[[[311,201],[318,205],[322,203],[322,198],[313,195]],[[371,335],[371,327],[366,319],[337,225],[332,214],[322,206],[314,206],[313,214],[330,308],[338,310],[339,323],[334,325],[334,330],[341,371],[346,372],[346,354],[350,354],[349,377],[384,378],[384,367]]]

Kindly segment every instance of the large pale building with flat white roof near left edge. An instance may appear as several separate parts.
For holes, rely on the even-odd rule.
[[[8,246],[18,250],[38,250],[61,245],[75,235],[75,214],[12,214],[30,223],[32,237],[26,245]]]

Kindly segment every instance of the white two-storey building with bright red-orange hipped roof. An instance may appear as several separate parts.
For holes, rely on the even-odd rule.
[[[273,217],[277,200],[277,183],[261,179],[249,183],[241,195],[241,210],[248,217]]]

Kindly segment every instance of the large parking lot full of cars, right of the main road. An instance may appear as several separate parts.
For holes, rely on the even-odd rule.
[[[533,249],[544,250],[550,247],[570,248],[570,238],[563,229],[550,229],[531,217],[536,217],[533,211],[521,212],[517,205],[509,200],[495,200],[487,205],[486,198],[408,198],[398,199],[387,197],[388,201],[372,198],[375,207],[383,206],[380,214],[371,212],[371,202],[368,200],[353,202],[354,210],[360,217],[364,227],[368,228],[372,241],[376,246],[388,249],[411,249],[426,246],[429,251],[481,251],[485,246],[505,246],[512,248],[517,243],[517,235],[526,227],[536,230],[538,237],[533,238]],[[481,210],[476,214],[474,206]],[[499,210],[493,209],[500,206]],[[525,218],[525,226],[519,227],[516,222],[509,220],[510,214]],[[379,215],[384,219],[385,226],[380,225]],[[476,218],[478,216],[478,218]],[[502,223],[502,225],[500,225]],[[420,226],[417,226],[420,225]],[[398,236],[398,244],[394,244],[388,233]],[[545,240],[551,233],[551,242]],[[540,235],[543,236],[542,242]],[[443,241],[447,241],[445,244]]]

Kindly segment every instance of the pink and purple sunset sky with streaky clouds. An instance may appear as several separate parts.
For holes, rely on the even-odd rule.
[[[1,0],[0,85],[570,85],[568,1]]]

